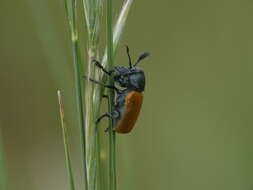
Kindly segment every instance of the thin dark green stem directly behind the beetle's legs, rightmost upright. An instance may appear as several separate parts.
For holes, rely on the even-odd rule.
[[[107,57],[108,68],[113,69],[113,29],[112,29],[112,0],[107,0]],[[114,85],[113,77],[109,77],[109,84]],[[109,90],[109,111],[113,112],[114,91]],[[116,190],[116,154],[115,154],[115,132],[113,131],[113,120],[109,120],[109,189]]]

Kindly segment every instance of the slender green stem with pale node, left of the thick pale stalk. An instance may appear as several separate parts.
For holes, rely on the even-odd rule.
[[[69,28],[71,32],[72,41],[72,52],[73,52],[73,62],[74,62],[74,76],[75,76],[75,93],[76,93],[76,103],[78,112],[78,122],[80,128],[80,140],[81,140],[81,152],[83,161],[83,173],[84,173],[84,184],[87,189],[87,173],[86,173],[86,162],[85,162],[85,125],[84,125],[84,110],[83,110],[83,94],[81,86],[81,54],[79,47],[79,38],[77,32],[77,11],[76,11],[76,0],[71,0],[69,6],[68,0],[65,0],[65,8],[67,13],[67,19],[69,22]]]

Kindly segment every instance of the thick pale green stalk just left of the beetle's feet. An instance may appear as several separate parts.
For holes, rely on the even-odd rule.
[[[87,43],[87,77],[95,78],[93,61],[97,59],[100,20],[102,16],[102,0],[83,0],[85,20],[88,32]],[[101,99],[94,98],[94,84],[89,80],[85,86],[85,139],[86,139],[86,169],[88,190],[99,188],[99,136],[97,133],[96,118],[99,111],[96,104]]]

